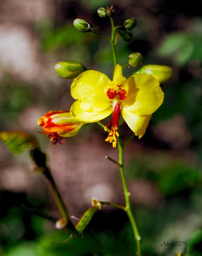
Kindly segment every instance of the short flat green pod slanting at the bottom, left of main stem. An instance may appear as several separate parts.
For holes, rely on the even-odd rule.
[[[75,229],[81,233],[87,227],[88,223],[91,221],[93,215],[97,212],[98,207],[92,206],[91,208],[87,209],[85,213],[82,215],[81,219],[75,226]]]

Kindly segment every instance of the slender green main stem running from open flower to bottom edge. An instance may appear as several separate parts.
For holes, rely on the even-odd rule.
[[[120,132],[119,132],[120,134]],[[123,166],[123,145],[121,143],[121,139],[120,137],[117,138],[118,139],[118,150],[119,150],[119,169],[120,169],[120,173],[121,173],[121,180],[122,180],[122,185],[123,185],[123,191],[124,191],[124,196],[125,196],[125,201],[126,201],[126,212],[128,215],[128,218],[131,222],[131,226],[133,228],[133,234],[134,234],[134,238],[136,241],[136,245],[137,245],[137,256],[141,256],[141,246],[140,246],[140,235],[139,235],[139,231],[138,231],[138,227],[136,224],[136,221],[133,217],[133,213],[131,210],[131,204],[130,204],[130,192],[127,189],[127,184],[126,184],[126,179],[125,179],[125,173],[124,173],[124,166]]]

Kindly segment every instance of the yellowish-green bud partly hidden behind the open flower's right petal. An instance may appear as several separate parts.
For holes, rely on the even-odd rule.
[[[173,70],[165,65],[144,65],[134,74],[148,74],[156,78],[160,83],[165,83],[172,76]]]

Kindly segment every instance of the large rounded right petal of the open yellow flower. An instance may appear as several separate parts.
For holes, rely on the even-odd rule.
[[[150,75],[137,74],[127,79],[129,92],[125,109],[138,116],[152,114],[163,102],[164,93],[159,82]]]

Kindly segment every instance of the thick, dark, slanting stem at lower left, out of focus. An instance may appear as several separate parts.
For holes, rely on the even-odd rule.
[[[58,206],[58,210],[59,210],[59,212],[60,212],[60,215],[61,215],[63,221],[64,221],[65,223],[68,223],[68,212],[67,212],[67,208],[66,208],[66,206],[65,206],[65,204],[64,204],[64,202],[63,202],[62,197],[61,197],[60,194],[59,194],[58,188],[57,188],[57,186],[56,186],[56,184],[55,184],[54,179],[52,178],[52,175],[51,175],[50,171],[49,171],[48,169],[46,169],[46,170],[43,172],[43,174],[46,176],[46,179],[47,179],[48,182],[49,182],[49,185],[50,185],[51,190],[52,190],[52,194],[53,194],[53,196],[54,196],[54,198],[55,198],[55,202],[56,202],[56,204],[57,204],[57,206]]]

